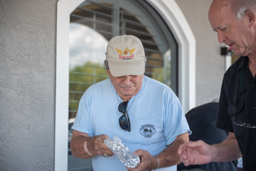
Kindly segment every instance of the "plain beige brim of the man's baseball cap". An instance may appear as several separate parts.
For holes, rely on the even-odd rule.
[[[109,61],[109,69],[110,73],[114,77],[120,77],[124,75],[143,75],[145,72],[143,60],[122,63]]]

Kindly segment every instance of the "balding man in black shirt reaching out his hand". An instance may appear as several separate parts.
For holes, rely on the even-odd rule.
[[[185,165],[236,160],[256,170],[256,1],[214,0],[208,18],[220,43],[241,57],[226,71],[216,126],[229,132],[221,144],[188,142],[178,153]]]

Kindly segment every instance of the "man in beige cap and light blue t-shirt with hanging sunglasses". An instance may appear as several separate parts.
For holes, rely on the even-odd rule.
[[[71,151],[93,158],[94,171],[176,170],[180,163],[177,151],[188,141],[188,124],[173,91],[143,75],[145,61],[139,38],[112,38],[104,61],[110,78],[91,86],[79,102]],[[141,156],[137,168],[125,167],[103,143],[114,135]]]

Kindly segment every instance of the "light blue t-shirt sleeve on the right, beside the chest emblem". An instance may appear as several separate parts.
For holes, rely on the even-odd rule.
[[[164,119],[164,136],[166,145],[173,143],[178,135],[189,133],[189,126],[182,111],[180,101],[176,95],[172,95],[172,102],[169,102],[169,108]]]

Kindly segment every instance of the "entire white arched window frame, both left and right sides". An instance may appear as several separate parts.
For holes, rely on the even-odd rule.
[[[196,39],[175,0],[145,0],[162,16],[178,44],[178,96],[184,113],[196,106]],[[54,170],[68,170],[69,24],[84,0],[57,2]]]

